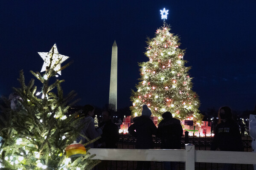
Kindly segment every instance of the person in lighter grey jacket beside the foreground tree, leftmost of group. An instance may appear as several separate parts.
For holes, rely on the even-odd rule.
[[[81,129],[80,133],[82,136],[79,136],[76,139],[76,142],[79,143],[81,141],[82,144],[87,143],[87,139],[85,139],[83,136],[86,136],[90,140],[95,139],[96,137],[100,136],[102,134],[102,128],[95,129],[94,127],[94,108],[92,105],[85,105],[83,108],[83,117],[81,118],[81,126],[83,128]],[[88,144],[87,147],[94,147],[94,144]]]

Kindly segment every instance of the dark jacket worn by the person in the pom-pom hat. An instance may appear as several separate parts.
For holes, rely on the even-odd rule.
[[[154,148],[152,134],[157,133],[157,127],[154,125],[149,116],[134,117],[132,124],[128,128],[128,132],[137,137],[135,144],[136,149],[152,149]],[[136,131],[135,131],[136,130]]]

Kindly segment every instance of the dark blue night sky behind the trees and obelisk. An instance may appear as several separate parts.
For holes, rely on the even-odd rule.
[[[131,89],[140,78],[137,62],[146,37],[163,26],[160,9],[169,10],[166,23],[180,36],[186,66],[194,77],[200,109],[228,105],[253,110],[256,104],[256,1],[218,0],[1,0],[0,95],[8,96],[23,69],[26,82],[41,71],[54,43],[69,56],[62,65],[65,93],[75,90],[78,105],[108,103],[111,49],[118,46],[117,108],[131,105]],[[41,84],[37,83],[38,88]]]

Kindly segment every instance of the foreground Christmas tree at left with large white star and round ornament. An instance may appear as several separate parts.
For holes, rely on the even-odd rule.
[[[69,65],[61,67],[68,57],[58,54],[56,45],[49,52],[38,54],[44,59],[41,71],[45,74],[31,73],[42,83],[42,88],[37,92],[34,79],[26,85],[23,71],[20,71],[21,87],[14,88],[14,93],[1,107],[4,125],[0,130],[3,137],[0,167],[8,170],[90,170],[99,161],[91,160],[92,156],[83,145],[70,145],[82,128],[77,126],[80,119],[68,114],[75,93],[71,91],[64,96],[61,89],[64,80],[55,79]],[[67,146],[70,158],[65,152]]]

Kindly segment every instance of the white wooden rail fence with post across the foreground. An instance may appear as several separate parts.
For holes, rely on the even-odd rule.
[[[185,170],[195,170],[195,162],[256,164],[256,153],[195,150],[193,144],[186,144],[185,149],[96,149],[89,150],[96,154],[93,159],[115,161],[181,161]]]

